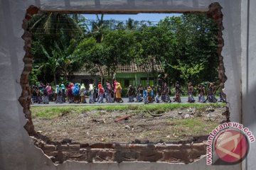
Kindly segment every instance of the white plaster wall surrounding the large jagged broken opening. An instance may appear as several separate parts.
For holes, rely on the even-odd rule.
[[[217,0],[216,0],[217,1]],[[250,8],[250,35],[247,45],[247,1],[218,0],[223,6],[223,57],[228,81],[225,83],[225,93],[230,103],[231,120],[242,121],[256,134],[256,69],[254,66],[255,39],[255,9]],[[26,8],[33,4],[42,9],[172,9],[182,11],[206,11],[211,0],[134,0],[135,6],[127,4],[126,0],[102,0],[101,6],[94,6],[92,0],[0,0],[0,169],[223,169],[224,166],[206,166],[206,160],[201,159],[189,165],[166,163],[101,163],[85,164],[65,162],[55,166],[50,159],[44,157],[40,149],[36,149],[26,130],[23,129],[26,120],[17,99],[21,95],[21,86],[17,83],[23,69],[22,58],[24,42],[21,39],[22,20]],[[250,1],[256,6],[256,1]],[[242,25],[241,25],[242,23]],[[247,47],[248,51],[247,51]],[[247,68],[248,59],[248,68]],[[242,64],[242,67],[241,67]],[[248,79],[246,79],[248,77]],[[242,101],[241,101],[242,94]],[[245,103],[245,100],[246,103]],[[241,111],[242,115],[241,116]],[[246,112],[245,112],[246,111]],[[255,144],[251,146],[250,157],[244,167],[254,169]],[[225,166],[225,169],[240,169],[240,164]]]

